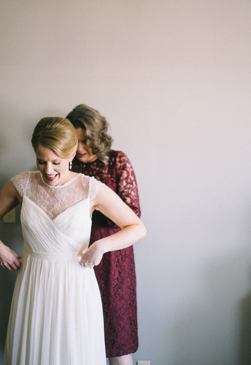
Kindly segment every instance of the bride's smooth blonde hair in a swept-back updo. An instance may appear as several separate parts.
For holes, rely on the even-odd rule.
[[[65,118],[48,116],[39,120],[31,139],[35,152],[38,145],[51,149],[60,158],[69,158],[78,148],[78,138],[72,123]]]

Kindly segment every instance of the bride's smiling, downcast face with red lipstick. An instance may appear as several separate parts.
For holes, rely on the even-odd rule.
[[[61,158],[42,145],[36,149],[36,165],[45,182],[51,186],[63,185],[73,177],[69,171],[69,162],[73,157],[74,154],[69,159]]]

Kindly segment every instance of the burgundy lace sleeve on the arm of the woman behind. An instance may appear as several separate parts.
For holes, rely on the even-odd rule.
[[[127,155],[119,152],[116,158],[117,191],[116,193],[138,217],[140,217],[139,193],[132,164]]]

